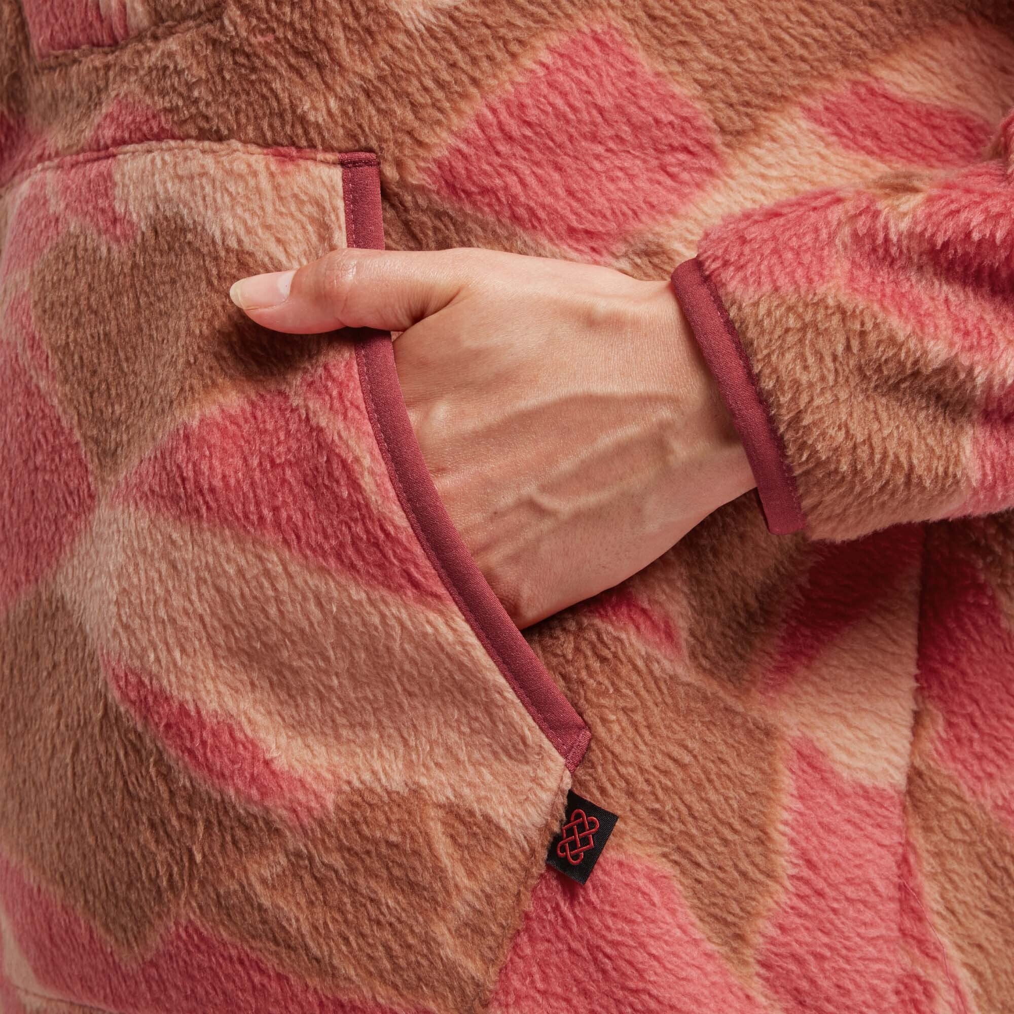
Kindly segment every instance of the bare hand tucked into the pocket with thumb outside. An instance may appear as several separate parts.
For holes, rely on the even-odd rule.
[[[423,458],[519,627],[636,573],[753,486],[667,282],[490,250],[336,250],[232,288],[293,335],[401,332]]]

